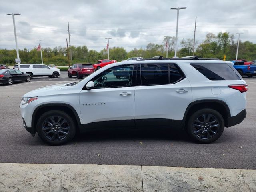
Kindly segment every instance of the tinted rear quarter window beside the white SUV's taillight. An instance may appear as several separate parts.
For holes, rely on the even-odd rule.
[[[241,80],[236,72],[226,63],[193,63],[196,70],[212,81]]]

